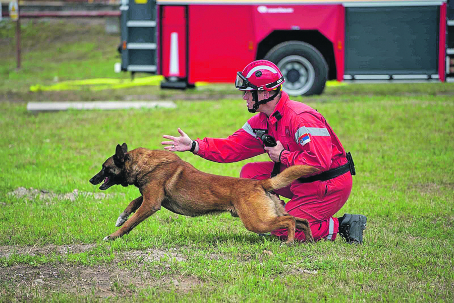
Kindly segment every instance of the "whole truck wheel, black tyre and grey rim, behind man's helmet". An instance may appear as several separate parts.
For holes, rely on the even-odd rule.
[[[282,72],[282,84],[291,96],[320,95],[328,77],[328,65],[323,55],[312,45],[301,41],[277,44],[265,55]]]

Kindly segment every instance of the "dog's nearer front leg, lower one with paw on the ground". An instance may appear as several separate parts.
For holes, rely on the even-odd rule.
[[[109,234],[104,240],[113,240],[129,233],[140,222],[154,214],[161,208],[161,202],[164,199],[164,190],[162,186],[148,187],[143,192],[142,205],[137,209],[134,215],[129,218],[125,224],[116,232]]]

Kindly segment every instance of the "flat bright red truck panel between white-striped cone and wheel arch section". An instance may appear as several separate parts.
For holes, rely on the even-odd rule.
[[[189,6],[189,83],[234,82],[255,59],[251,6]]]

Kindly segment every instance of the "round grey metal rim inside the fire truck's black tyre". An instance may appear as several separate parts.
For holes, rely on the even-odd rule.
[[[283,58],[277,64],[286,82],[283,89],[293,96],[305,94],[314,84],[315,70],[305,57],[291,55]]]

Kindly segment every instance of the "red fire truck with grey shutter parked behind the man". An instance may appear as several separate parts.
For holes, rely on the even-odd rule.
[[[120,10],[122,70],[163,75],[164,88],[233,83],[262,58],[290,95],[321,94],[333,79],[454,79],[454,0],[122,0]]]

